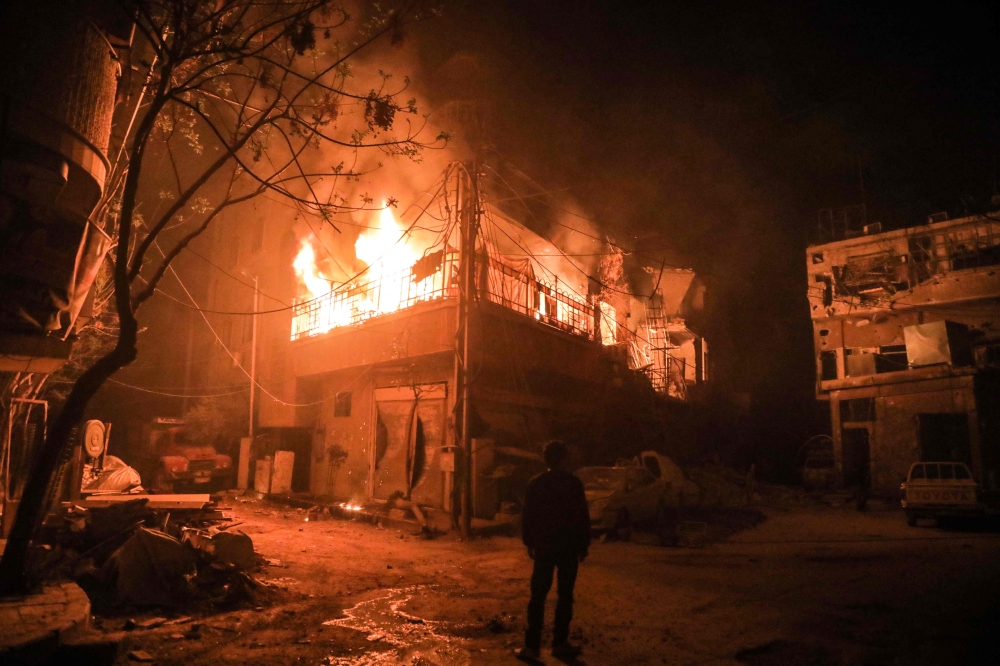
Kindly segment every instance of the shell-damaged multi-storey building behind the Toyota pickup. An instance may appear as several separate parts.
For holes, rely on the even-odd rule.
[[[896,492],[912,463],[1000,483],[1000,222],[992,215],[806,250],[816,395],[843,485]],[[853,236],[853,237],[852,237]]]

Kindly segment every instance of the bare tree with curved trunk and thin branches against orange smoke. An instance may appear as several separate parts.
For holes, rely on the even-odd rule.
[[[424,139],[415,100],[403,100],[408,80],[381,74],[366,90],[352,76],[360,54],[378,42],[398,44],[408,24],[429,16],[415,2],[372,3],[353,20],[332,0],[120,1],[148,49],[148,74],[98,212],[115,231],[118,328],[110,351],[72,385],[34,456],[0,561],[0,594],[30,585],[29,543],[54,473],[72,451],[73,427],[101,385],[135,359],[136,313],[171,261],[223,210],[265,192],[332,225],[336,213],[372,203],[348,200],[342,186],[361,175],[350,166],[360,151],[419,159],[447,141]],[[170,164],[172,183],[161,195],[165,210],[145,220],[140,186],[162,180],[147,173],[154,157]],[[164,233],[179,226],[179,236]]]

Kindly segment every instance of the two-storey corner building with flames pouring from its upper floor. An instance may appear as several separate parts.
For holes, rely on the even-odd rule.
[[[354,258],[315,225],[297,235],[299,213],[278,202],[220,221],[213,254],[229,277],[213,278],[209,309],[252,311],[237,271],[258,276],[257,425],[296,451],[294,488],[449,510],[469,468],[470,508],[490,518],[517,504],[546,439],[587,458],[583,424],[609,394],[641,385],[679,404],[705,378],[707,346],[685,319],[703,307],[692,272],[661,266],[652,298],[602,299],[552,242],[463,198],[472,177],[459,171],[420,209],[371,211]],[[212,319],[244,370],[250,320]]]

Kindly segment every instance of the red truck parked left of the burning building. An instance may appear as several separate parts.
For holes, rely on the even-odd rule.
[[[146,439],[154,458],[153,492],[212,492],[231,485],[233,459],[211,443],[192,440],[184,421],[157,418]]]

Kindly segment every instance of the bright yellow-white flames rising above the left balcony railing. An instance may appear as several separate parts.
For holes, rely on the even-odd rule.
[[[308,307],[296,308],[292,339],[321,335],[396,312],[414,301],[429,300],[439,289],[440,276],[414,280],[411,267],[421,254],[414,244],[392,211],[383,208],[377,226],[362,233],[354,244],[354,254],[366,270],[356,280],[337,285],[320,268],[313,240],[304,238],[292,267],[301,287],[298,304]]]

